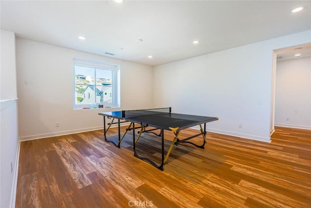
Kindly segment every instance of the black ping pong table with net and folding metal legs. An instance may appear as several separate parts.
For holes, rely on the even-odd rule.
[[[133,130],[133,151],[134,156],[139,159],[146,160],[151,163],[153,166],[158,168],[159,170],[164,170],[164,163],[168,160],[168,157],[173,150],[173,145],[178,145],[180,143],[189,143],[196,147],[204,149],[206,143],[206,123],[211,121],[218,120],[218,117],[208,117],[208,116],[199,116],[199,115],[189,115],[189,114],[180,114],[180,113],[171,113],[172,108],[157,108],[157,109],[145,109],[145,110],[130,110],[130,111],[114,111],[114,112],[103,112],[98,113],[99,115],[104,116],[104,140],[107,142],[111,142],[116,147],[120,148],[120,143],[123,140],[124,136],[128,131]],[[110,122],[107,123],[108,127],[106,128],[106,118],[110,119]],[[112,119],[112,120],[111,120]],[[114,119],[118,121],[115,122]],[[121,123],[130,122],[125,132],[121,137]],[[108,140],[106,137],[106,132],[109,130],[112,124],[118,124],[118,142],[114,142],[112,140]],[[135,124],[140,124],[140,126],[135,127]],[[202,127],[204,124],[204,127]],[[200,133],[192,135],[188,138],[179,139],[179,134],[181,130],[200,126]],[[146,129],[146,127],[153,127],[154,129]],[[135,130],[140,129],[138,131],[138,136],[135,138]],[[154,131],[160,130],[159,134],[156,134]],[[173,141],[170,145],[169,150],[167,151],[164,157],[164,130],[172,131],[174,133]],[[161,163],[156,164],[153,160],[139,156],[136,151],[136,144],[142,133],[154,133],[157,136],[161,136]],[[188,140],[202,135],[203,144],[197,145]]]

